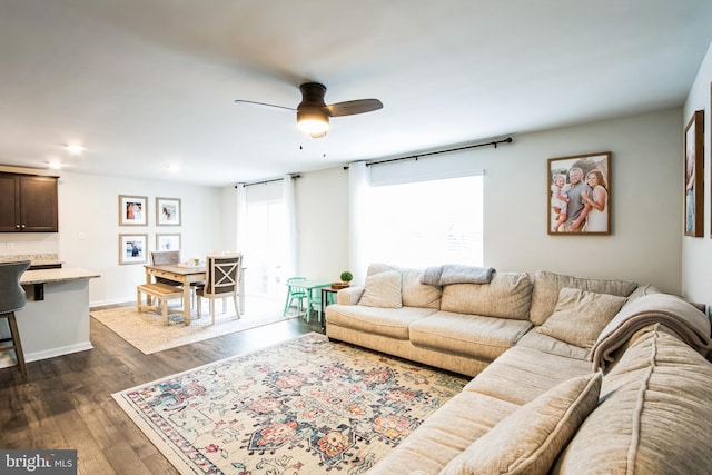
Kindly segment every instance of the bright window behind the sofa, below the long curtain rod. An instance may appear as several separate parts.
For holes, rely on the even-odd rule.
[[[372,186],[365,206],[369,263],[483,265],[482,175]]]

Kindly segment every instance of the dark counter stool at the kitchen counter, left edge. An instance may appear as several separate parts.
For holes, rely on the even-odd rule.
[[[24,308],[24,304],[27,303],[24,289],[20,286],[20,276],[22,276],[29,267],[29,260],[0,263],[0,318],[6,318],[10,327],[10,337],[0,338],[0,352],[14,350],[18,366],[20,366],[20,373],[22,373],[22,377],[26,379],[27,365],[24,364],[24,355],[22,354],[22,344],[20,343],[20,333],[18,331],[14,313]],[[10,345],[4,345],[6,343],[10,343]]]

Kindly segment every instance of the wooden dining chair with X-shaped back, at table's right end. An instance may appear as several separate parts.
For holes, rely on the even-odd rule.
[[[204,298],[210,299],[210,318],[215,325],[215,300],[222,299],[222,313],[226,311],[226,301],[228,297],[233,297],[233,304],[237,318],[240,318],[240,307],[238,305],[238,281],[240,277],[240,267],[243,264],[243,255],[220,254],[208,255],[206,259],[206,279],[204,286],[198,286],[196,296],[198,298],[198,318],[202,315],[201,301]],[[244,296],[239,296],[244,298]]]

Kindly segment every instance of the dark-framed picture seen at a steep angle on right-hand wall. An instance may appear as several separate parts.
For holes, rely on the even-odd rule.
[[[692,113],[685,126],[683,160],[684,235],[702,237],[704,227],[704,111]]]

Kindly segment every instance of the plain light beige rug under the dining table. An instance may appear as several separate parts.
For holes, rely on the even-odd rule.
[[[281,315],[283,305],[250,298],[246,301],[245,315],[237,319],[229,299],[225,314],[220,313],[222,304],[218,301],[215,325],[211,324],[209,310],[205,308],[209,307],[208,305],[204,306],[204,315],[200,318],[196,318],[194,314],[190,326],[184,324],[181,315],[169,315],[169,324],[166,325],[160,310],[139,313],[135,306],[92,310],[90,315],[144,354],[150,355],[164,349],[295,318],[294,315],[287,317]]]

